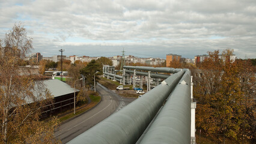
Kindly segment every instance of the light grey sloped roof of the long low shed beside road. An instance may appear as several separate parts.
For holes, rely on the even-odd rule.
[[[45,87],[52,93],[53,97],[59,97],[74,92],[74,88],[67,85],[67,83],[61,82],[58,79],[50,79],[43,81]],[[79,90],[76,89],[76,92]]]

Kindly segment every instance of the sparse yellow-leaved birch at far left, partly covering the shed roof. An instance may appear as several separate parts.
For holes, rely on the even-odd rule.
[[[32,39],[16,24],[0,43],[0,143],[55,143],[56,118],[40,121],[41,110],[52,103],[43,84],[19,75],[19,61],[32,49]]]

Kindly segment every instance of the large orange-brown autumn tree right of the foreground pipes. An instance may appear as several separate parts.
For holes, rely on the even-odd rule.
[[[210,58],[202,63],[202,69],[199,70],[201,79],[196,82],[194,89],[198,101],[197,127],[208,134],[236,140],[252,138],[252,123],[249,119],[255,115],[255,95],[248,94],[255,86],[252,67],[237,60],[227,61],[228,56],[233,55],[233,50],[225,50],[221,55],[216,50],[209,52],[209,55]]]

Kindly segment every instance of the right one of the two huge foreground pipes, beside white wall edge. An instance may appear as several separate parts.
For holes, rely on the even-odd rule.
[[[190,71],[186,71],[140,143],[190,143],[190,113]]]

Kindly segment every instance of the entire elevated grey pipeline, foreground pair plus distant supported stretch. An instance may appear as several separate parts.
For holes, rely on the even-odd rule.
[[[128,73],[134,68],[134,73],[135,67],[124,68],[130,69]],[[168,69],[174,74],[69,143],[195,143],[195,103],[192,101],[190,71],[136,68],[144,70],[141,74]],[[105,74],[122,79],[115,74]]]

